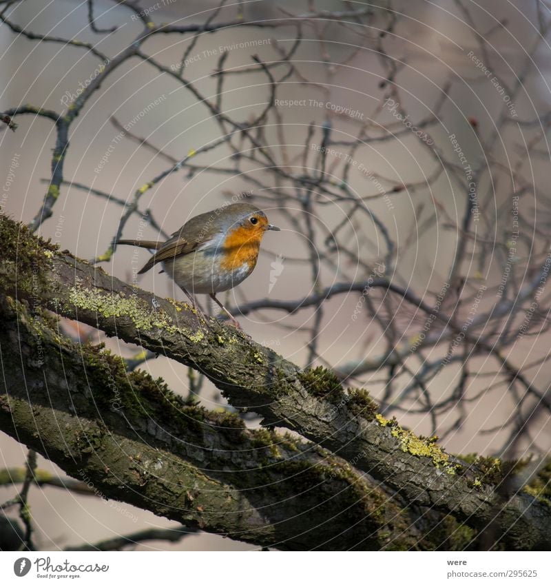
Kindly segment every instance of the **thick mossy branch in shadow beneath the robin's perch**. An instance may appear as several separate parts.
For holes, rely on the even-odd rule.
[[[10,297],[0,315],[0,428],[96,495],[259,546],[415,546],[399,506],[323,449],[186,404]]]

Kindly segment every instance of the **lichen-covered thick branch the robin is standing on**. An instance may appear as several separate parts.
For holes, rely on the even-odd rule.
[[[453,514],[477,529],[492,524],[495,538],[514,548],[550,546],[551,507],[545,501],[522,485],[504,497],[498,488],[506,474],[481,482],[486,476],[476,464],[377,414],[366,391],[345,391],[323,368],[301,371],[215,320],[199,324],[187,305],[155,298],[59,252],[8,218],[1,221],[0,246],[0,289],[6,294],[38,300],[43,308],[194,367],[234,407],[331,449],[408,502]]]

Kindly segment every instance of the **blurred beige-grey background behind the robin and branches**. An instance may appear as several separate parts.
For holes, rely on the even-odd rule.
[[[118,278],[183,300],[164,274],[136,279],[148,252],[114,250],[115,235],[162,239],[245,193],[282,228],[224,299],[241,307],[253,340],[301,366],[332,367],[450,453],[548,453],[546,3],[25,0],[0,10],[0,110],[18,125],[0,132],[4,213]],[[152,34],[112,68],[149,21],[235,25]],[[42,114],[75,107],[45,217],[59,136]],[[369,278],[428,311],[366,287]],[[227,407],[183,365],[63,326],[209,409]],[[25,451],[0,434],[0,468],[21,467]],[[63,478],[43,458],[39,468]],[[2,501],[15,493],[0,486]],[[176,526],[54,486],[32,489],[30,506],[43,550]],[[193,534],[136,548],[253,547]]]

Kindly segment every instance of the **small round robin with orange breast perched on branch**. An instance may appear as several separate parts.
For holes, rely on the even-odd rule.
[[[197,307],[195,294],[208,294],[231,321],[239,323],[216,298],[233,289],[251,274],[266,232],[280,228],[268,223],[266,214],[250,203],[233,203],[187,221],[166,242],[118,240],[154,249],[155,254],[138,274],[158,263]]]

